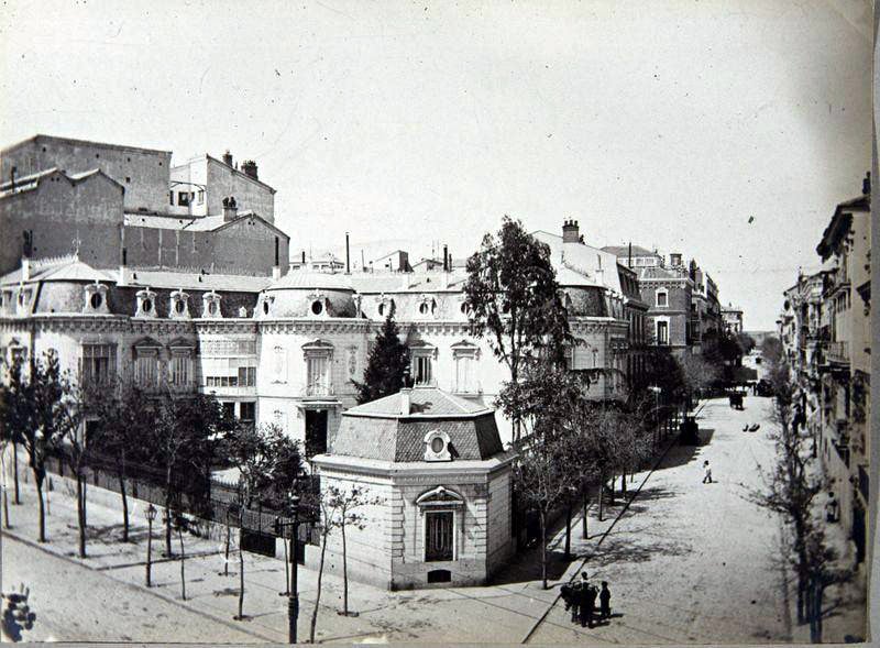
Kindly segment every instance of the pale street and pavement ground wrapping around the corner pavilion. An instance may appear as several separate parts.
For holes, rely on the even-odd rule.
[[[766,437],[768,404],[749,397],[746,409],[735,411],[726,400],[706,403],[698,419],[701,446],[673,446],[657,470],[637,474],[630,488],[642,487],[616,523],[623,508],[619,498],[603,523],[591,508],[588,540],[580,538],[575,520],[573,550],[579,558],[571,564],[562,560],[562,545],[556,542],[550,590],[540,587],[532,553],[488,587],[389,593],[353,583],[352,607],[360,616],[345,618],[336,614],[340,580],[326,576],[318,639],[519,642],[535,628],[529,638],[535,644],[785,640],[790,619],[783,572],[776,560],[779,523],[743,497],[747,487],[760,482],[756,464],[772,458]],[[761,429],[743,432],[746,422],[760,422]],[[713,484],[701,483],[705,459],[713,466]],[[36,516],[31,491],[25,488],[24,495],[24,505],[12,508],[12,532],[32,542]],[[187,560],[184,603],[178,562],[155,565],[157,586],[142,586],[145,529],[140,521],[134,543],[96,538],[91,558],[82,565],[74,557],[68,498],[54,496],[48,519],[48,545],[36,548],[10,537],[3,542],[3,582],[30,585],[37,612],[28,639],[285,640],[285,603],[277,595],[284,582],[279,561],[248,554],[249,619],[234,622],[238,576],[218,575],[222,557],[216,543],[187,540],[187,551],[202,556]],[[89,519],[118,532],[118,526],[112,527],[118,514],[111,509],[90,506]],[[554,604],[559,584],[580,571],[584,557],[591,578],[609,581],[614,596],[615,616],[592,630],[573,626],[561,602]],[[232,574],[237,568],[233,562]],[[314,572],[300,572],[300,640],[307,638],[315,581]]]

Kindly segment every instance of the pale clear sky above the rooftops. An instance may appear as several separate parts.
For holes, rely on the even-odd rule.
[[[572,218],[696,259],[768,330],[870,168],[871,29],[862,0],[4,0],[0,146],[228,149],[292,255]]]

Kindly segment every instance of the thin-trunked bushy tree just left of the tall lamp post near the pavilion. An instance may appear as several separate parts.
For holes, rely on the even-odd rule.
[[[286,494],[301,472],[298,444],[274,425],[238,425],[223,437],[223,452],[239,471],[239,614],[244,618],[244,510],[255,498]]]

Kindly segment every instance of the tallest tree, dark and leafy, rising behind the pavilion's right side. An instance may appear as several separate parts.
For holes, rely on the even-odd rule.
[[[465,306],[476,337],[485,337],[495,356],[519,385],[524,365],[539,355],[561,359],[571,342],[550,249],[505,216],[497,235],[487,233],[468,260]],[[516,389],[513,392],[514,398]],[[514,440],[520,438],[514,406]]]

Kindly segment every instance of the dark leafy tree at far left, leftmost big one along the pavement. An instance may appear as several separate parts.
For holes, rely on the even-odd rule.
[[[46,541],[45,502],[43,483],[46,479],[46,459],[55,451],[64,432],[63,420],[67,416],[64,404],[64,386],[58,354],[54,350],[46,351],[43,359],[31,356],[30,371],[26,377],[21,374],[21,363],[12,365],[12,381],[20,385],[18,397],[21,398],[20,416],[22,424],[22,443],[28,451],[29,464],[36,484],[36,497],[40,515],[38,540]]]

